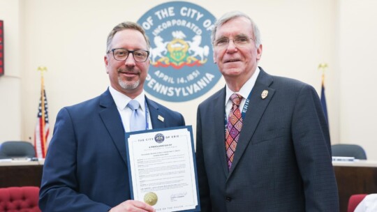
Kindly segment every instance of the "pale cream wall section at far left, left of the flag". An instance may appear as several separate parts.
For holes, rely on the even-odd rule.
[[[4,29],[4,68],[0,77],[0,142],[23,139],[20,1],[0,0]]]

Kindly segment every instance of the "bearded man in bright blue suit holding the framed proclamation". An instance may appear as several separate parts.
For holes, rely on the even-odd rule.
[[[140,104],[142,130],[185,123],[182,114],[145,96],[149,47],[145,31],[133,22],[110,32],[104,58],[108,90],[57,115],[43,167],[42,211],[154,211],[130,200],[125,132],[135,123],[126,105],[131,100]]]

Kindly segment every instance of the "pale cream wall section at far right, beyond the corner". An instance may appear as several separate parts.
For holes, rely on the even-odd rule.
[[[377,160],[377,1],[340,2],[339,140],[362,144]]]

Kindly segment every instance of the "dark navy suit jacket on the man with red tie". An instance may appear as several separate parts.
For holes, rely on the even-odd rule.
[[[221,89],[198,107],[202,211],[339,211],[329,131],[312,86],[261,69],[229,171],[225,98]]]

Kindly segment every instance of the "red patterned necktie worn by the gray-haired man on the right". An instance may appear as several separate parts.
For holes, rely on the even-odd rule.
[[[241,111],[239,110],[239,104],[241,103],[242,96],[237,93],[233,93],[232,96],[230,96],[230,100],[232,100],[232,109],[230,109],[228,124],[226,126],[226,156],[228,169],[232,167],[239,132],[241,132],[242,128],[242,115]]]

